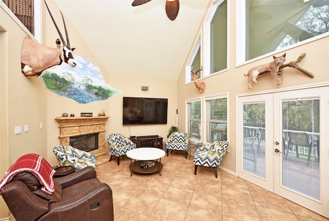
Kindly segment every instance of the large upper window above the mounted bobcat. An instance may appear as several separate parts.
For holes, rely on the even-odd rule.
[[[236,9],[239,64],[328,34],[328,1],[250,0]]]

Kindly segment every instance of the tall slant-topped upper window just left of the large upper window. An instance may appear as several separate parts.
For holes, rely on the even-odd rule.
[[[205,76],[227,69],[227,8],[228,1],[215,1],[205,19]]]

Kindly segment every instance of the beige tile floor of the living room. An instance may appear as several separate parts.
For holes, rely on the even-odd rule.
[[[329,220],[223,170],[198,167],[193,155],[161,159],[161,176],[133,174],[126,156],[97,157],[97,176],[113,191],[114,220]]]

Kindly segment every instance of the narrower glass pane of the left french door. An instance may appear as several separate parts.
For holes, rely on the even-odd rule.
[[[265,103],[243,105],[243,170],[265,178]]]

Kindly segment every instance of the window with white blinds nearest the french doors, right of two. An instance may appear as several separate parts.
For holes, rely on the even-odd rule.
[[[227,140],[227,94],[205,97],[206,142]]]

